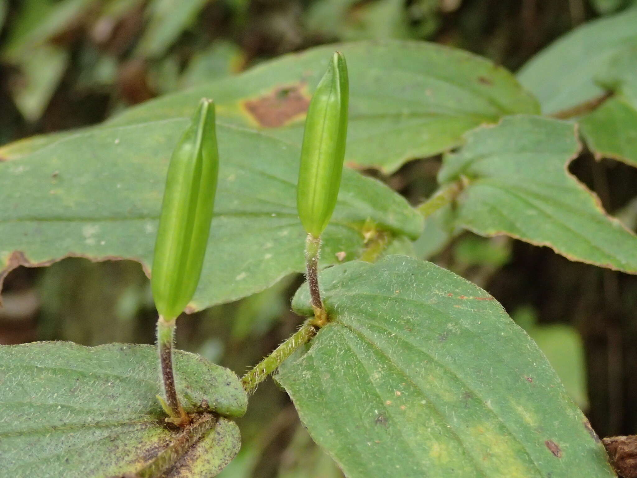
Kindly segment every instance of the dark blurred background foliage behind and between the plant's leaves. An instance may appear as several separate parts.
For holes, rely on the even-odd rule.
[[[634,0],[0,0],[0,144],[100,122],[123,108],[264,59],[334,41],[401,38],[464,48],[517,70],[561,34]],[[637,25],[636,25],[637,28]],[[440,157],[387,182],[417,204]],[[611,214],[637,225],[637,173],[584,153],[571,172]],[[1,206],[1,205],[0,205]],[[417,254],[493,294],[538,342],[599,435],[637,431],[637,277],[571,263],[546,248],[427,221]],[[242,373],[299,324],[294,276],[236,303],[183,315],[178,347]],[[64,259],[6,279],[0,343],[152,343],[147,278],[130,261]],[[342,476],[270,380],[240,421],[234,477]]]

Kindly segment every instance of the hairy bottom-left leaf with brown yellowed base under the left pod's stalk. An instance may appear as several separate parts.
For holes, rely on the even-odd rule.
[[[1,346],[3,473],[16,478],[217,474],[239,449],[232,418],[245,413],[247,396],[233,372],[195,354],[176,352],[175,373],[184,408],[197,414],[181,432],[163,424],[152,345]]]

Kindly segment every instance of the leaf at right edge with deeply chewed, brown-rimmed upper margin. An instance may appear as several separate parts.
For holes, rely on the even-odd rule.
[[[456,199],[456,223],[462,228],[637,273],[637,237],[609,217],[566,169],[579,151],[569,122],[508,117],[469,133],[466,145],[444,158],[438,180],[466,182]]]

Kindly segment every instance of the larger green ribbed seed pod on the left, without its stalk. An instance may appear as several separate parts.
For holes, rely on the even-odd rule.
[[[151,284],[155,307],[166,321],[183,312],[199,284],[218,163],[215,105],[201,99],[173,150],[155,242]]]

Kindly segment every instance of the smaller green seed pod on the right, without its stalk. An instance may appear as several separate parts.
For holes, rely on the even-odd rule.
[[[296,206],[308,234],[318,237],[332,217],[341,185],[349,85],[347,64],[334,53],[310,101],[303,133]]]

